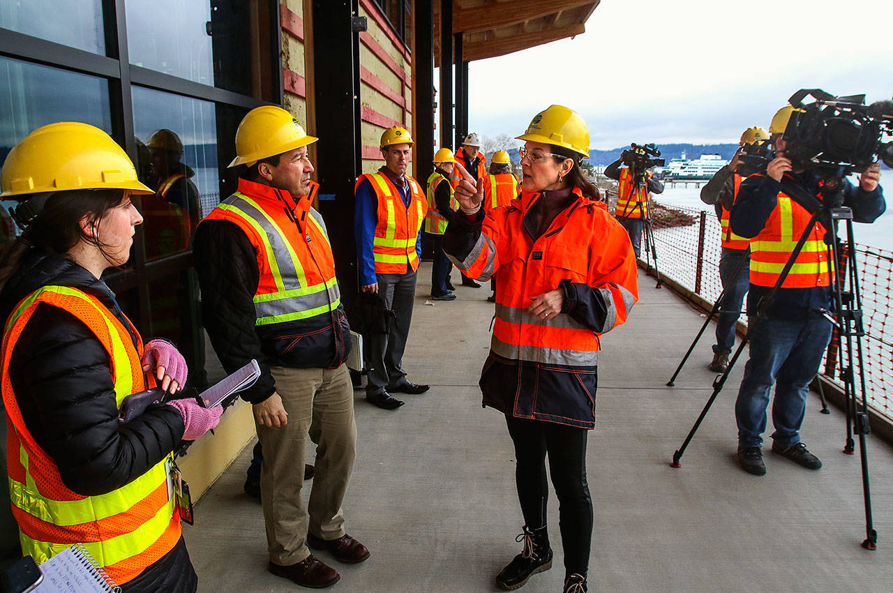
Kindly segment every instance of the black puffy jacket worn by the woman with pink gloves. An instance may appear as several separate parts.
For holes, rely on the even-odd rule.
[[[0,292],[3,319],[21,299],[47,285],[78,288],[123,316],[102,280],[77,263],[31,247]],[[108,354],[86,325],[52,305],[38,305],[22,330],[10,379],[25,426],[53,459],[65,486],[82,496],[121,488],[179,447],[183,437],[183,418],[170,405],[150,405],[132,422],[118,422]],[[182,541],[131,582],[123,590],[194,591],[195,572]],[[159,583],[170,586],[158,589]]]

